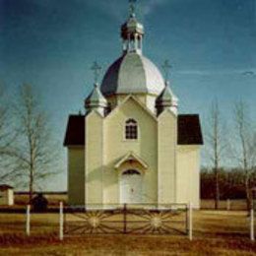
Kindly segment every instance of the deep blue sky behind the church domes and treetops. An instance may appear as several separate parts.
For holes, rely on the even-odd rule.
[[[63,171],[48,189],[66,189],[67,117],[83,109],[92,90],[92,63],[105,71],[121,54],[127,2],[0,0],[0,82],[10,96],[32,84],[62,152]],[[146,30],[144,54],[159,67],[164,59],[173,66],[180,112],[204,120],[218,98],[229,122],[233,102],[243,98],[256,118],[255,0],[141,0],[137,14]]]

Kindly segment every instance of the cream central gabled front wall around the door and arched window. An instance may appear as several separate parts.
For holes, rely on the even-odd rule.
[[[139,139],[126,141],[125,121],[134,118],[139,125]],[[156,203],[158,195],[157,121],[136,100],[130,97],[105,118],[104,128],[104,203],[119,203],[119,172],[114,165],[127,153],[133,152],[147,162],[144,174],[145,203]],[[130,168],[133,168],[131,164]]]

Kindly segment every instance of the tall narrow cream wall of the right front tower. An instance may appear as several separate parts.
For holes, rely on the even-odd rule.
[[[159,204],[175,203],[177,119],[169,110],[159,116]]]

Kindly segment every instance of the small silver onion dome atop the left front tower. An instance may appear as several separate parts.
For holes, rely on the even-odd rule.
[[[85,100],[85,107],[88,111],[93,109],[98,110],[100,113],[104,113],[104,109],[107,106],[107,101],[104,96],[102,96],[97,84],[92,91],[92,93]]]

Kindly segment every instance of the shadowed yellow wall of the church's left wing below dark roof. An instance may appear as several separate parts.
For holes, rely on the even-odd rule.
[[[85,150],[84,147],[68,148],[68,202],[85,204]]]

